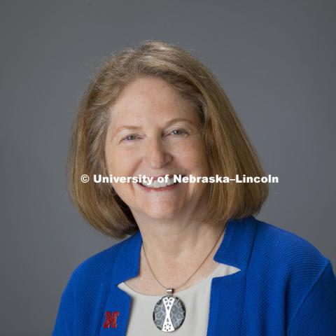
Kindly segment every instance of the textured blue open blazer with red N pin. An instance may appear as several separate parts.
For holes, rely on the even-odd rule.
[[[212,279],[207,335],[335,336],[330,260],[253,216],[227,225],[214,260],[241,270]],[[132,298],[117,285],[139,274],[141,244],[138,231],[73,271],[52,335],[126,335]]]

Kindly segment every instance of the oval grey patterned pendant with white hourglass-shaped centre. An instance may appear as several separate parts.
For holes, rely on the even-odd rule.
[[[153,321],[164,332],[179,329],[185,318],[186,307],[177,296],[166,295],[155,304]]]

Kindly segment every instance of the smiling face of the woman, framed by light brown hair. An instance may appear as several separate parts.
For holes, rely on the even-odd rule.
[[[192,103],[160,78],[127,85],[110,111],[105,157],[113,176],[208,176],[202,124]],[[207,199],[206,183],[148,188],[113,183],[134,218],[178,219],[193,215]]]

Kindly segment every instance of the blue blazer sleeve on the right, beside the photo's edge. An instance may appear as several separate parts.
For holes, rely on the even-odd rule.
[[[300,303],[288,335],[336,335],[336,277],[330,260]]]

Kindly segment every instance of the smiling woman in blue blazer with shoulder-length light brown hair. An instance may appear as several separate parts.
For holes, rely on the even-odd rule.
[[[174,183],[264,175],[223,89],[188,52],[150,41],[106,62],[80,104],[69,172],[87,221],[131,236],[73,272],[53,335],[336,335],[330,260],[253,217],[267,184]]]

